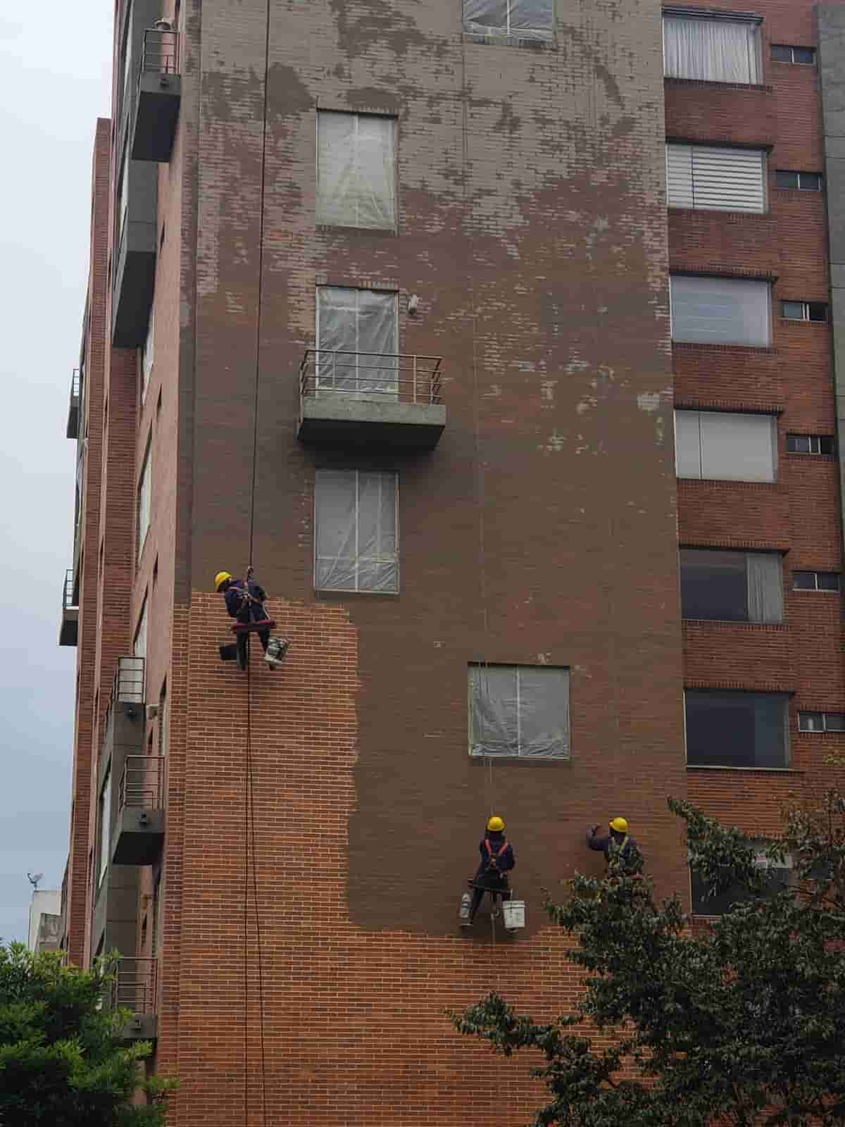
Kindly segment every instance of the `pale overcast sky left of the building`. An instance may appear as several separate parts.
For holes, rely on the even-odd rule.
[[[0,11],[0,938],[26,939],[29,872],[68,857],[77,650],[59,648],[73,554],[65,438],[88,276],[95,121],[109,114],[113,0]]]

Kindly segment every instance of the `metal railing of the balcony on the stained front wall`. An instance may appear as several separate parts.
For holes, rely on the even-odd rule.
[[[300,396],[349,396],[371,402],[441,402],[439,356],[309,348],[300,364]]]

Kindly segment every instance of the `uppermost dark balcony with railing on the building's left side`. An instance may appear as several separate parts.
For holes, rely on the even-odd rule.
[[[133,160],[170,160],[180,98],[179,33],[169,28],[148,28],[132,127]]]

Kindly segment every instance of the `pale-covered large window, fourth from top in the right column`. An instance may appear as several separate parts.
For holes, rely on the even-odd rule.
[[[773,415],[675,411],[675,470],[679,478],[775,481],[777,421]]]

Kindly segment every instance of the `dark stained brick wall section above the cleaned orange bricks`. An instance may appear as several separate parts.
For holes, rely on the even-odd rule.
[[[560,5],[544,48],[464,39],[457,0],[398,7],[274,0],[267,54],[263,3],[193,17],[192,586],[242,569],[252,526],[272,593],[343,602],[359,630],[356,923],[452,930],[492,807],[534,903],[616,813],[684,889],[660,6]],[[398,117],[395,233],[317,228],[318,108]],[[443,357],[430,455],[297,444],[319,284],[398,290],[401,350]],[[315,595],[321,465],[399,472],[399,596]],[[570,667],[571,764],[470,760],[479,660]]]

